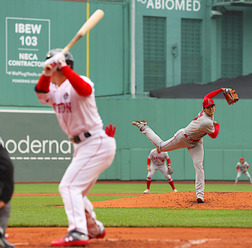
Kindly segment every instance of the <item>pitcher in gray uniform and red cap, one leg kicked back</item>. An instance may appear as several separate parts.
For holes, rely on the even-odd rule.
[[[203,109],[199,112],[186,128],[180,129],[169,140],[163,141],[154,131],[147,126],[146,121],[133,121],[140,131],[157,147],[159,151],[172,151],[187,148],[192,157],[196,178],[195,189],[197,201],[204,202],[205,175],[203,168],[204,149],[203,137],[208,134],[215,139],[219,133],[219,124],[214,121],[215,104],[213,97],[224,92],[225,88],[208,93],[202,102]]]

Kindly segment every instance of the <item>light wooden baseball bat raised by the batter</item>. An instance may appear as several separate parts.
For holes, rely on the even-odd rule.
[[[82,27],[79,29],[79,31],[76,33],[76,35],[73,37],[73,39],[62,49],[61,53],[66,54],[71,47],[89,30],[91,30],[104,16],[104,12],[101,9],[97,9],[91,16],[88,18],[88,20],[82,25]],[[50,65],[47,65],[47,67],[51,67]]]

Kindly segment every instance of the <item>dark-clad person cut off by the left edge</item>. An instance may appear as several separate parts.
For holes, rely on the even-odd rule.
[[[14,166],[9,157],[9,153],[2,146],[0,138],[0,247],[14,248],[5,239],[5,230],[10,217],[10,200],[14,191]]]

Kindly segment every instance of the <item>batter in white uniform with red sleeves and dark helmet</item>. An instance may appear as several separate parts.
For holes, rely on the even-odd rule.
[[[68,218],[68,234],[52,246],[88,245],[90,238],[105,236],[87,193],[115,156],[116,143],[103,130],[93,82],[73,71],[73,57],[60,49],[48,52],[35,87],[42,104],[53,107],[62,130],[74,145],[73,159],[59,185]],[[50,65],[50,66],[48,66]]]

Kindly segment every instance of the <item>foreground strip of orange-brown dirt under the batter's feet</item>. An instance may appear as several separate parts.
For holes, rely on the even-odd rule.
[[[102,240],[90,248],[251,248],[252,229],[242,228],[106,228]],[[9,241],[17,248],[50,247],[66,228],[9,228]]]

